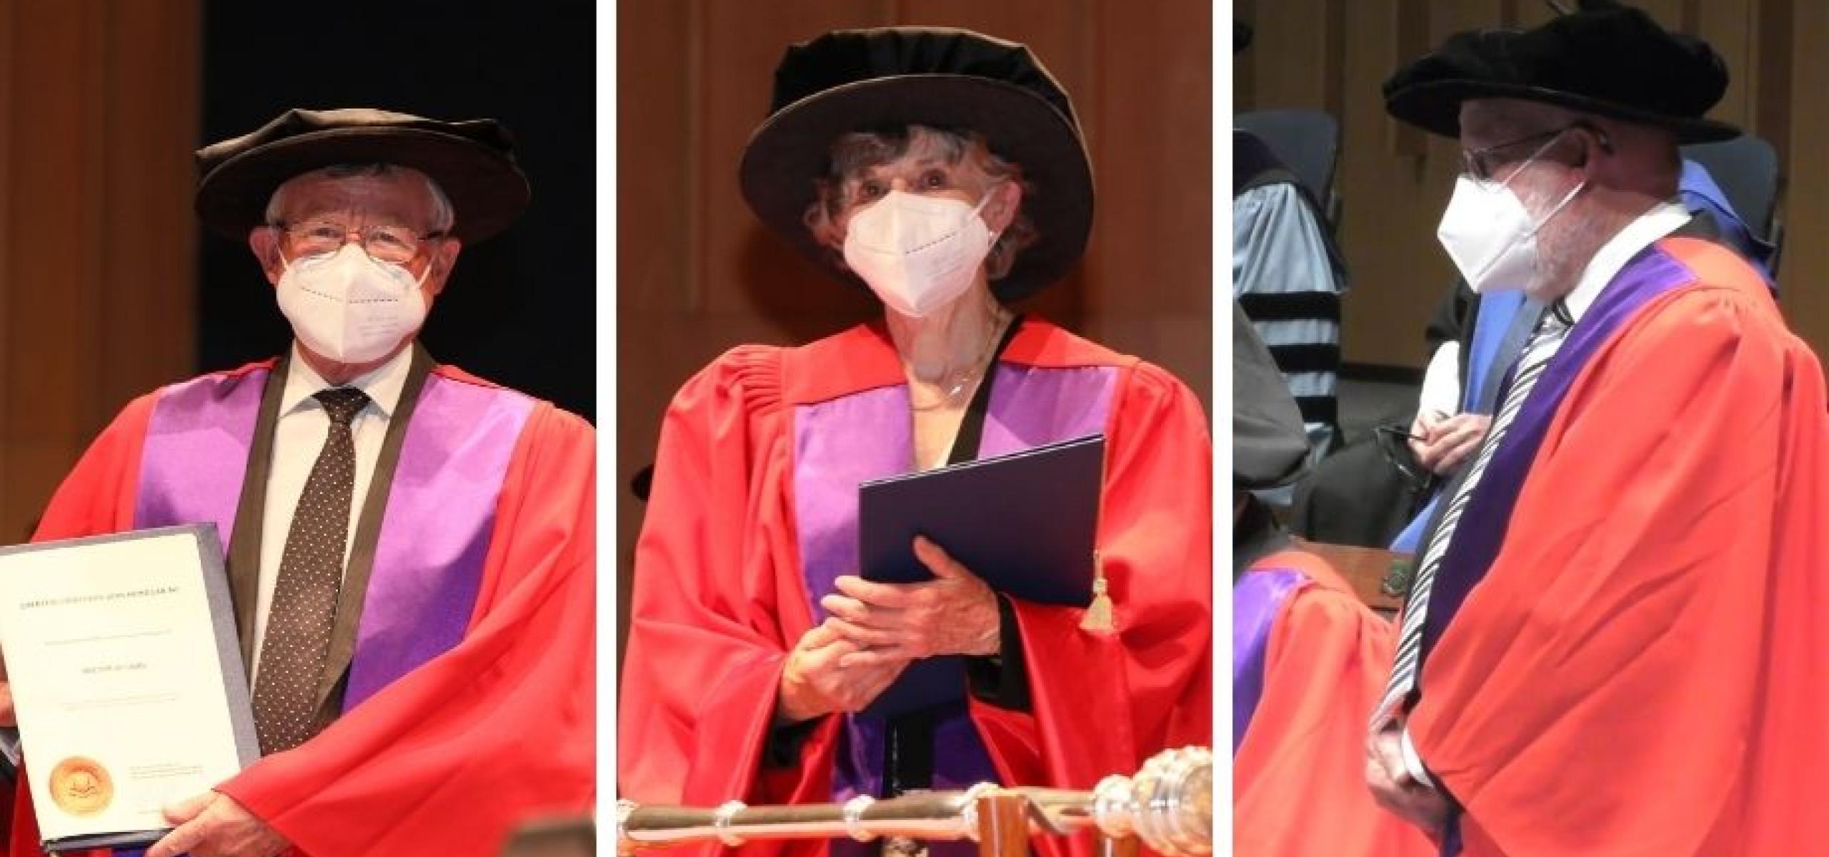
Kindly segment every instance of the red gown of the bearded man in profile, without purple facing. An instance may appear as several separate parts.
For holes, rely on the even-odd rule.
[[[1465,855],[1825,853],[1829,418],[1765,283],[1695,239],[1577,375],[1423,665]]]

